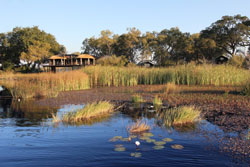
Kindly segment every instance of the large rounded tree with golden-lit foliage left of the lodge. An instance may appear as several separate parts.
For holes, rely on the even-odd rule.
[[[55,37],[40,30],[37,26],[20,28],[0,35],[0,55],[3,64],[18,65],[20,60],[41,63],[53,54],[64,53],[65,47]]]

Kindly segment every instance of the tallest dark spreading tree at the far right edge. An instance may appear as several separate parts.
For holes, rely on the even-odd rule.
[[[240,47],[250,45],[249,19],[241,15],[223,16],[201,31],[201,37],[214,40],[218,49],[233,57]]]

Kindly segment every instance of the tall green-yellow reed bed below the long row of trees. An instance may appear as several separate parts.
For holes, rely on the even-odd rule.
[[[83,69],[91,87],[177,85],[241,86],[250,79],[248,70],[229,65],[180,65],[168,68],[90,66]]]

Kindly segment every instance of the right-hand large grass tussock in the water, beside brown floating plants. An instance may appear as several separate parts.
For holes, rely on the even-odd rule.
[[[201,119],[201,112],[194,106],[182,106],[165,111],[161,118],[166,126],[185,125]]]

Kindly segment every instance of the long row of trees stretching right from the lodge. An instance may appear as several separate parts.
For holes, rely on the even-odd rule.
[[[178,28],[142,34],[136,28],[116,35],[110,30],[101,31],[98,38],[83,41],[83,53],[96,57],[124,56],[130,62],[154,60],[158,65],[214,60],[220,55],[230,58],[245,56],[250,51],[250,20],[246,16],[223,16],[197,34],[183,33]]]

